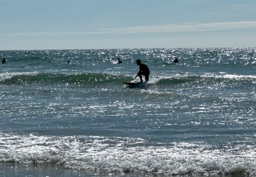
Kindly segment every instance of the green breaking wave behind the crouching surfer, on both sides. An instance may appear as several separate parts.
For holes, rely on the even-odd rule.
[[[76,73],[55,74],[39,72],[0,73],[0,84],[26,85],[26,84],[65,84],[69,86],[100,86],[102,84],[120,85],[122,82],[134,80],[133,76],[108,73]],[[148,85],[177,85],[177,84],[216,84],[238,82],[249,84],[256,82],[256,76],[238,76],[231,74],[220,75],[184,75],[150,78]]]

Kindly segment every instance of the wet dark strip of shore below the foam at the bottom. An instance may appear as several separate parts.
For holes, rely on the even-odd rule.
[[[93,172],[89,170],[76,170],[68,167],[61,167],[59,165],[52,164],[31,164],[31,163],[0,163],[0,172],[4,177],[9,176],[66,176],[66,177],[76,177],[76,176],[123,176],[123,177],[185,177],[185,176],[201,176],[201,177],[246,177],[253,176],[253,174],[248,174],[246,172],[236,172],[236,174],[206,174],[206,173],[188,173],[188,174],[152,174],[152,173],[135,173],[135,172]]]

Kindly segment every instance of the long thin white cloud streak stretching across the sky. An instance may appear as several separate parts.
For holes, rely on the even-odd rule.
[[[63,35],[94,35],[94,34],[130,34],[130,33],[184,33],[197,31],[228,31],[238,29],[256,28],[256,21],[241,22],[188,22],[182,24],[151,25],[126,28],[98,29],[84,32],[61,32],[61,33],[8,33],[12,36],[63,36]],[[2,34],[3,35],[3,34]]]

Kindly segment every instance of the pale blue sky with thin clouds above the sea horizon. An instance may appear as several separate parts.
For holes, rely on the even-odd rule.
[[[256,47],[256,0],[0,0],[0,50]]]

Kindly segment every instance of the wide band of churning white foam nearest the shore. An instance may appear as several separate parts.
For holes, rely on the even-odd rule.
[[[256,175],[255,147],[196,143],[145,146],[141,138],[0,134],[0,162],[47,163],[78,170],[149,174]]]

